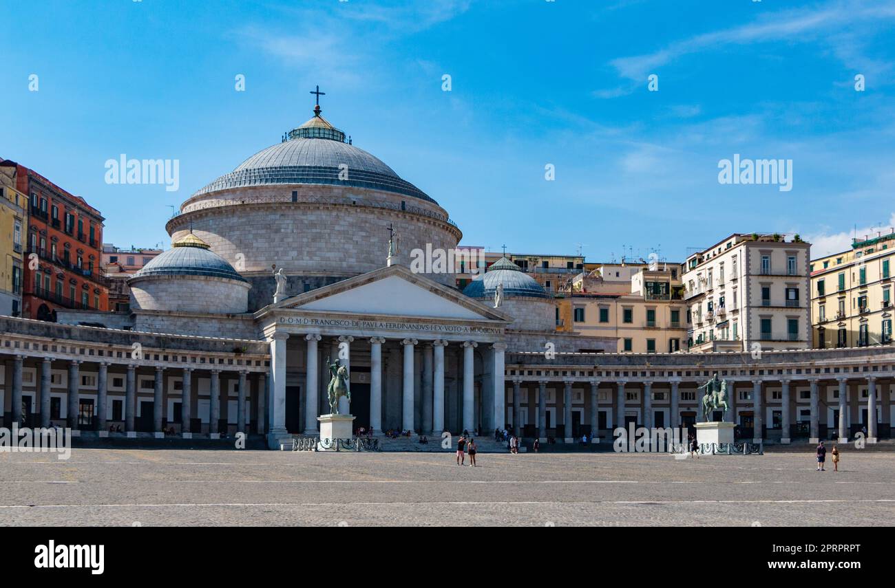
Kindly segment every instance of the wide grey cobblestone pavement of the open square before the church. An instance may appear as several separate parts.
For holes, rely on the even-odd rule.
[[[888,525],[895,454],[0,454],[0,525]],[[832,466],[832,464],[829,464]],[[717,501],[717,502],[716,502]]]

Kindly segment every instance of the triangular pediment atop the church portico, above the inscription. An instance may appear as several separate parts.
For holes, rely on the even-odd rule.
[[[403,265],[384,267],[286,298],[260,313],[286,309],[475,321],[510,320],[499,310],[413,273]]]

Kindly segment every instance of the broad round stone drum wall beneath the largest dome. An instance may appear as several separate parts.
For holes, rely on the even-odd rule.
[[[272,190],[273,188],[267,188]],[[295,202],[283,195],[300,189]],[[386,265],[388,226],[398,234],[399,257],[407,264],[413,248],[456,248],[462,233],[447,223],[439,206],[411,197],[386,193],[373,196],[395,200],[384,206],[363,206],[371,190],[331,186],[277,187],[276,202],[264,201],[257,190],[244,189],[245,204],[200,208],[184,205],[167,223],[172,239],[192,231],[243,275],[268,276],[272,266],[287,274],[348,277]],[[227,190],[234,200],[240,190]],[[308,195],[312,192],[316,197]],[[211,197],[214,195],[204,195]],[[377,200],[379,202],[379,200]],[[402,210],[405,206],[406,210]],[[425,207],[424,207],[425,206]],[[411,208],[420,212],[411,212]],[[440,213],[438,212],[440,211]],[[429,274],[448,286],[456,284],[452,273]],[[290,292],[297,294],[301,292]]]

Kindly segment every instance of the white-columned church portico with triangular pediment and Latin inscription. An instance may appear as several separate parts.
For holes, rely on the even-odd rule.
[[[404,266],[286,298],[255,318],[270,345],[271,447],[318,433],[327,359],[349,368],[354,425],[374,434],[505,424],[507,315]],[[303,421],[286,423],[298,413]]]

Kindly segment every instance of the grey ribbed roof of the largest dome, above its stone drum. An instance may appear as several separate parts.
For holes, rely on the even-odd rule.
[[[310,121],[291,130],[283,139],[251,155],[233,172],[217,178],[193,196],[269,184],[329,184],[380,189],[435,202],[421,189],[402,180],[375,155],[345,143],[345,133],[320,116],[319,107]],[[347,168],[340,167],[343,165]]]

